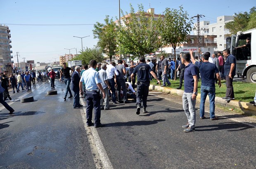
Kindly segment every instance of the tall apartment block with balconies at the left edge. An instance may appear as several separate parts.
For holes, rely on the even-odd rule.
[[[13,56],[11,56],[12,45],[10,43],[12,40],[10,39],[11,30],[9,30],[9,27],[6,25],[0,24],[0,71],[3,72],[4,70],[8,70],[9,72],[12,72],[12,63],[11,60]]]

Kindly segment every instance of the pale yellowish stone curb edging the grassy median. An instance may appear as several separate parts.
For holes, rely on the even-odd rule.
[[[159,91],[164,91],[164,92],[170,92],[173,94],[177,94],[179,96],[183,95],[183,90],[178,90],[174,88],[166,88],[166,87],[161,87],[161,86],[156,86],[156,85],[150,85],[149,89],[151,90],[159,90]],[[201,94],[198,93],[197,99],[201,98]],[[206,100],[209,100],[209,96],[207,95]],[[256,115],[256,106],[248,103],[248,102],[242,102],[238,100],[231,100],[229,103],[225,100],[223,100],[221,97],[215,97],[215,102],[225,105],[225,106],[236,106],[237,108],[240,108],[244,113],[251,113]]]

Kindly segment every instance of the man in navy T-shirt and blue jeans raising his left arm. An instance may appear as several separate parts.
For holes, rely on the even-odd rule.
[[[193,51],[190,51],[190,57],[192,63],[194,63],[201,72],[201,101],[200,101],[200,119],[205,119],[204,116],[204,104],[206,100],[206,96],[209,95],[210,101],[210,118],[211,120],[218,120],[219,118],[215,116],[215,77],[216,74],[218,79],[218,85],[221,87],[220,75],[218,68],[215,64],[209,63],[210,55],[208,53],[204,53],[202,56],[202,62],[197,62],[194,59]]]

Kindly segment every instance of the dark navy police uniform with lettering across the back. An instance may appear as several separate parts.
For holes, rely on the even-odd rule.
[[[140,63],[137,65],[133,74],[137,73],[137,97],[136,106],[141,106],[141,99],[143,102],[143,107],[147,107],[147,95],[149,93],[149,83],[150,83],[150,72],[153,71],[151,67],[146,63]]]

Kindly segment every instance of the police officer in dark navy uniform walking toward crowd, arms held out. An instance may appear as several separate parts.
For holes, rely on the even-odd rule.
[[[151,67],[145,63],[145,57],[143,56],[140,57],[140,64],[134,68],[133,73],[131,74],[132,80],[136,73],[137,73],[136,114],[140,114],[141,99],[143,101],[143,113],[147,113],[146,107],[147,107],[147,95],[149,93],[150,74],[152,74],[152,76],[157,80],[159,85],[161,85],[161,82],[157,78],[156,74],[154,74]]]

